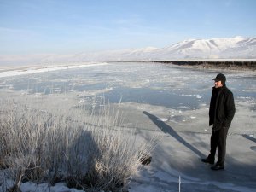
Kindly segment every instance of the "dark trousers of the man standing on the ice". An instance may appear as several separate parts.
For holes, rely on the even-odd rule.
[[[220,166],[224,166],[225,154],[226,154],[226,139],[228,135],[229,127],[223,127],[220,130],[212,130],[211,136],[211,151],[208,156],[209,159],[214,160],[216,149],[218,148],[218,161]]]

